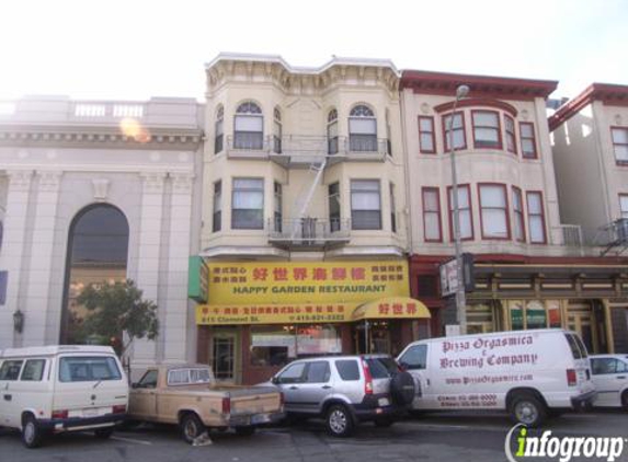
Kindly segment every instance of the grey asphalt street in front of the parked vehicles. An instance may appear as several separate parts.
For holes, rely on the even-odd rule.
[[[390,428],[361,426],[355,436],[327,436],[322,423],[260,429],[251,437],[212,432],[210,446],[183,442],[175,427],[140,427],[118,431],[109,441],[89,434],[48,439],[45,447],[27,450],[19,435],[0,430],[0,462],[372,462],[372,461],[505,461],[504,439],[512,427],[502,415],[430,414]],[[628,438],[628,413],[568,414],[544,429],[556,436]],[[628,461],[628,442],[618,461]],[[518,460],[558,460],[518,459]],[[605,459],[572,459],[605,460]]]

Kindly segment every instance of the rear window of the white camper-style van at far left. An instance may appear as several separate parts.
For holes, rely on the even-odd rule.
[[[121,379],[122,373],[111,356],[66,356],[59,362],[60,382]]]

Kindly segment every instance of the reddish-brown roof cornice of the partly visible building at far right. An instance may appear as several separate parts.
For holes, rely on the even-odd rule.
[[[556,130],[594,101],[601,101],[605,106],[626,107],[628,106],[628,85],[592,83],[578,96],[560,106],[558,111],[548,118],[550,131]]]

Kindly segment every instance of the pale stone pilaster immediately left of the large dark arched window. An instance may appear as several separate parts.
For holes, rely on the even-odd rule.
[[[55,221],[61,172],[37,172],[39,182],[35,200],[28,284],[24,311],[27,320],[24,346],[43,345],[46,338],[46,320],[50,307],[50,276],[55,242]],[[58,333],[57,333],[58,337]]]

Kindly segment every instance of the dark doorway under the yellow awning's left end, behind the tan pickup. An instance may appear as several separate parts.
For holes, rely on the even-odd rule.
[[[237,331],[214,331],[210,344],[212,369],[219,382],[240,383],[240,335]]]

